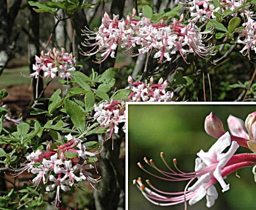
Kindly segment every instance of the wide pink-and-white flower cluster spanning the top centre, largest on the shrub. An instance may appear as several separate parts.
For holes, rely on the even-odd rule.
[[[165,57],[171,60],[171,54],[180,53],[182,58],[188,53],[196,53],[205,58],[207,55],[215,54],[211,45],[205,45],[205,37],[193,22],[182,24],[183,16],[180,20],[174,18],[171,25],[153,24],[149,18],[144,16],[141,20],[135,20],[135,9],[133,14],[127,18],[119,20],[118,15],[111,19],[107,13],[102,17],[102,24],[95,32],[89,29],[83,32],[87,36],[83,45],[93,47],[91,51],[84,53],[91,56],[101,53],[99,62],[103,62],[108,56],[114,58],[117,45],[130,51],[135,47],[139,48],[138,53],[130,53],[131,56],[150,53],[156,51],[154,58],[159,58],[159,62]],[[207,33],[207,32],[204,32]],[[95,40],[95,43],[92,43]]]

